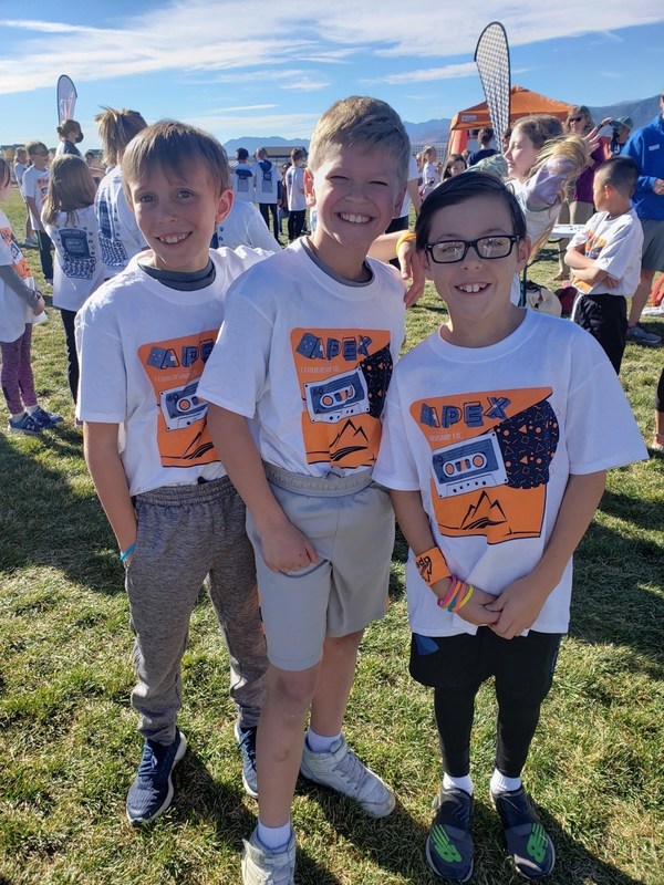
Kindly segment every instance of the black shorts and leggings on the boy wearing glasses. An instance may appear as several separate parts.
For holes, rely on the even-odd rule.
[[[518,778],[526,764],[542,700],[549,694],[560,635],[536,633],[502,639],[488,627],[475,636],[413,637],[411,674],[433,686],[444,770],[463,778],[470,771],[470,731],[480,685],[496,678],[498,701],[496,768]],[[432,652],[432,643],[437,652]]]

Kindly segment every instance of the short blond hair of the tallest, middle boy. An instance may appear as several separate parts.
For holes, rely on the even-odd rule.
[[[309,166],[315,171],[325,163],[330,148],[355,145],[385,150],[394,160],[400,185],[406,184],[411,142],[401,117],[388,104],[360,95],[334,102],[313,129]]]

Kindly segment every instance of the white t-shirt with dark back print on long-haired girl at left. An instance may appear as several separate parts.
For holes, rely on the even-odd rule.
[[[104,279],[100,237],[94,206],[76,210],[75,226],[60,212],[54,225],[44,229],[55,247],[53,306],[77,311]]]

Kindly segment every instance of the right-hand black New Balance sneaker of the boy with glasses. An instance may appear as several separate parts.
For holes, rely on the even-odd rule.
[[[504,793],[491,792],[505,830],[507,853],[525,878],[543,878],[553,870],[556,848],[535,813],[523,787]]]

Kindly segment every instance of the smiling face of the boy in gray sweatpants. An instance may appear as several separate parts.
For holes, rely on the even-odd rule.
[[[209,261],[217,217],[226,217],[232,192],[215,192],[210,176],[193,160],[186,180],[175,170],[155,166],[139,183],[128,183],[136,221],[159,270],[195,272]]]

